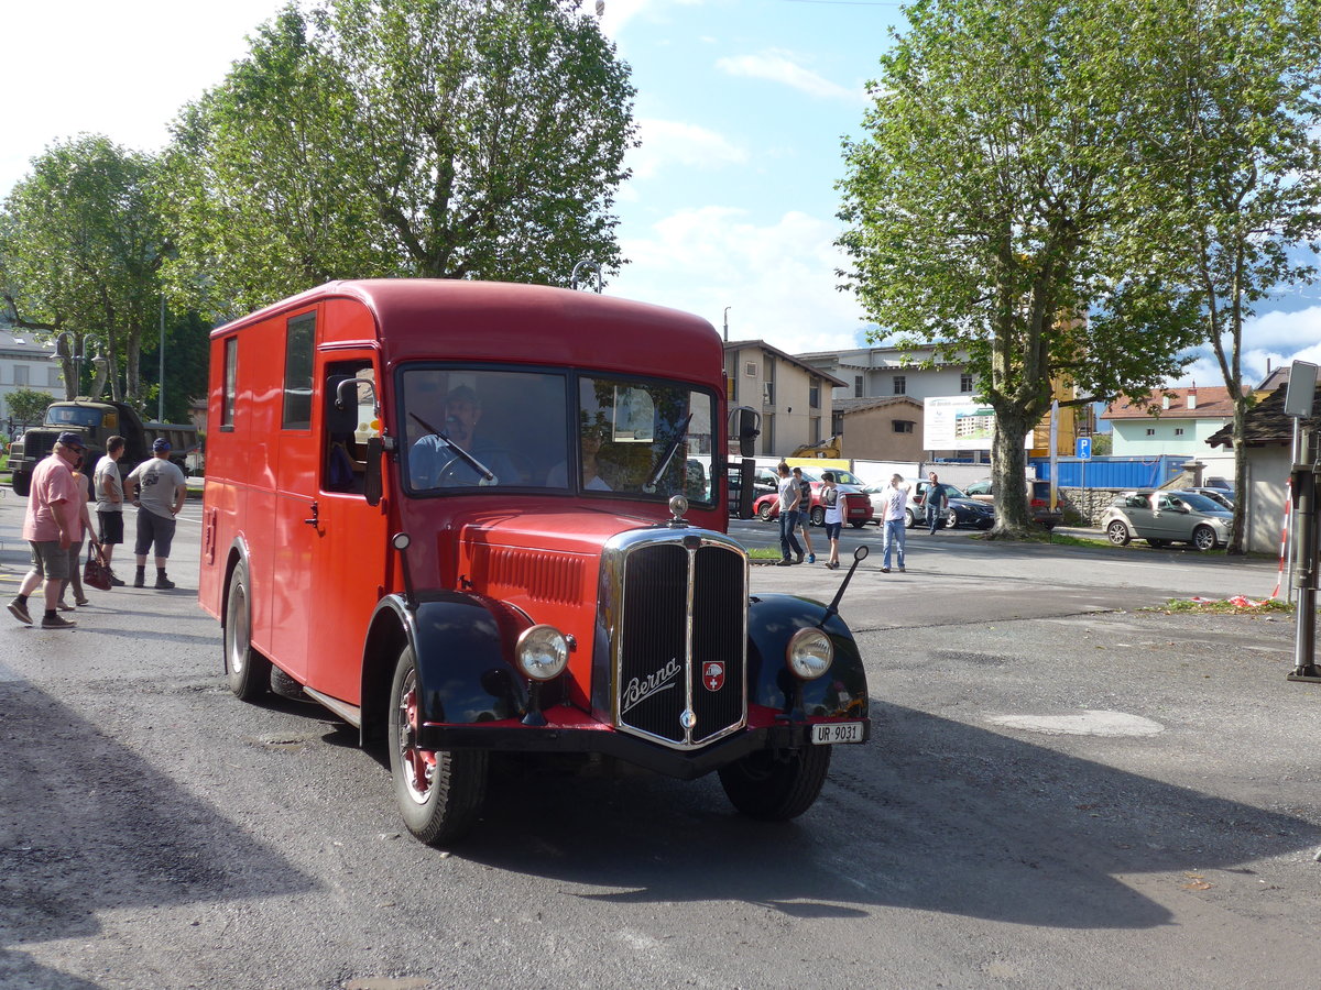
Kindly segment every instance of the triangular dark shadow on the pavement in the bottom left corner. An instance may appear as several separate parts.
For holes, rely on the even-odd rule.
[[[40,966],[22,946],[92,936],[98,912],[316,886],[21,680],[0,680],[0,986],[94,986]]]

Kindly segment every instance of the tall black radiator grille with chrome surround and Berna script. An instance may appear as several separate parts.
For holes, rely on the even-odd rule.
[[[634,529],[601,556],[593,692],[612,725],[695,750],[748,723],[748,556],[723,533]],[[721,664],[708,689],[703,668]],[[597,686],[597,685],[593,685]],[[604,697],[602,697],[604,696]]]

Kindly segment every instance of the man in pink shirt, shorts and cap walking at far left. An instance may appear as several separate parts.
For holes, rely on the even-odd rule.
[[[32,570],[18,585],[18,597],[9,602],[13,616],[28,626],[28,595],[37,585],[46,582],[46,614],[41,619],[44,630],[67,630],[78,623],[59,615],[59,586],[69,577],[69,546],[78,527],[78,499],[83,496],[74,482],[73,466],[85,453],[82,436],[65,432],[55,441],[50,457],[32,473],[32,491],[28,494],[28,512],[22,517],[22,539],[32,546]]]

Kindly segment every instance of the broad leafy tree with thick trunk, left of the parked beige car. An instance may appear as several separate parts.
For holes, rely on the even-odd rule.
[[[1155,388],[1186,363],[1196,300],[1149,268],[1124,160],[1123,3],[919,0],[845,141],[843,272],[901,339],[966,352],[996,412],[995,535],[1028,525],[1024,437],[1050,409]]]

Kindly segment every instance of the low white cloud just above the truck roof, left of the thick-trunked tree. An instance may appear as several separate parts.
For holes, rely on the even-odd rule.
[[[861,310],[835,290],[843,256],[834,223],[786,213],[758,226],[744,210],[704,206],[625,240],[630,259],[612,294],[688,310],[731,339],[761,338],[790,354],[855,347]]]

